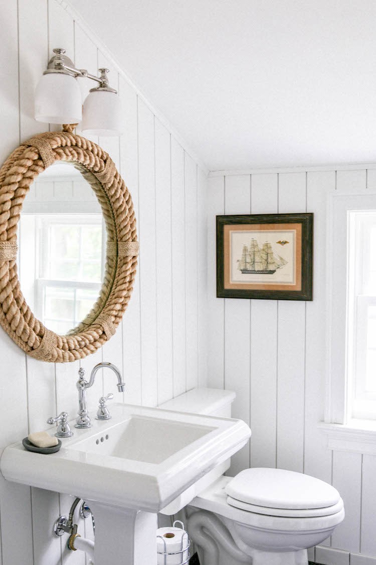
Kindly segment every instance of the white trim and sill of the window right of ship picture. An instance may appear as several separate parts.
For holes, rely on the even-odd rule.
[[[347,291],[353,281],[348,280],[348,211],[376,210],[376,193],[331,193],[328,199],[327,245],[327,355],[325,421],[319,426],[328,435],[329,449],[376,454],[376,420],[351,419],[349,411],[350,371],[346,344],[348,342]],[[342,263],[339,250],[346,246],[346,261]],[[352,346],[349,343],[350,347]]]

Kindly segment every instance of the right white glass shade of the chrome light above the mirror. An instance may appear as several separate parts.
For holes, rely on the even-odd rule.
[[[82,132],[91,136],[119,136],[122,133],[121,101],[117,94],[94,90],[82,110]]]

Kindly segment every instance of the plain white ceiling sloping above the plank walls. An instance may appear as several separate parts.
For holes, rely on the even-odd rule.
[[[376,161],[375,0],[70,0],[211,170]]]

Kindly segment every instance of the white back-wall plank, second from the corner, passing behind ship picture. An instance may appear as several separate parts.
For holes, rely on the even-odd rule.
[[[250,176],[229,176],[225,178],[225,214],[246,214],[250,212]],[[250,301],[247,299],[225,298],[224,314],[224,386],[236,390],[232,415],[247,423],[250,421]],[[231,458],[229,474],[235,476],[249,467],[249,444]]]

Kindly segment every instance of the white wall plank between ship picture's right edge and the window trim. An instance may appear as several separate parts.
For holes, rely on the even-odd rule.
[[[324,419],[326,350],[326,201],[335,188],[335,173],[309,172],[307,211],[313,212],[313,301],[307,302],[306,397],[304,426],[304,472],[331,481],[331,451],[317,421]]]

